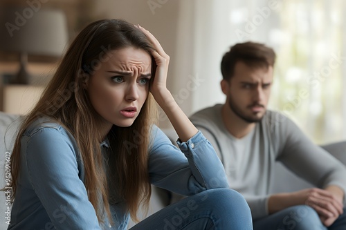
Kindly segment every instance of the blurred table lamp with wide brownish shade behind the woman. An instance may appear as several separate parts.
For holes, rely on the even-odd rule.
[[[66,17],[61,10],[30,7],[6,8],[1,15],[0,50],[21,55],[17,78],[22,79],[16,83],[26,84],[27,55],[61,57],[68,41]]]

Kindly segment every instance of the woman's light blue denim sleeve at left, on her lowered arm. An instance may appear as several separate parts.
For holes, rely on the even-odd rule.
[[[56,128],[41,128],[21,144],[30,184],[55,229],[100,229],[68,138]]]

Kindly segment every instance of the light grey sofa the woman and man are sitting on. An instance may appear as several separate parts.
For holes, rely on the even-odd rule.
[[[15,139],[15,133],[17,132],[17,127],[21,122],[21,117],[19,115],[13,115],[9,113],[0,112],[0,186],[1,188],[5,186],[5,166],[6,161],[8,161],[8,155],[12,150],[12,146]],[[177,138],[175,131],[172,129],[163,129],[165,134],[170,137],[170,140],[175,144]],[[327,144],[322,146],[331,155],[334,155],[338,160],[346,165],[346,142],[336,142],[333,144]],[[8,164],[8,163],[7,163]],[[288,171],[279,162],[275,166],[275,182],[273,186],[273,193],[282,191],[298,191],[300,189],[311,187],[312,185],[304,180],[298,178],[296,175]],[[166,207],[167,205],[179,200],[181,197],[174,193],[170,193],[164,189],[152,186],[152,197],[150,199],[149,211],[147,215],[151,215],[156,211]],[[9,220],[10,205],[7,202],[5,194],[0,195],[0,229],[7,229]],[[143,213],[139,213],[140,218],[145,218]],[[134,226],[134,222],[129,222],[129,227]]]

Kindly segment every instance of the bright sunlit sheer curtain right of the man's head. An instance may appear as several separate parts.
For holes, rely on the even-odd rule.
[[[271,105],[323,144],[345,139],[345,2],[284,1]]]

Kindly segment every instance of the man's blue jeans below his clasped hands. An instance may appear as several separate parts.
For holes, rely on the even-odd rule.
[[[307,205],[289,207],[266,218],[253,221],[255,230],[345,230],[346,210],[329,227],[325,227],[314,209]]]

